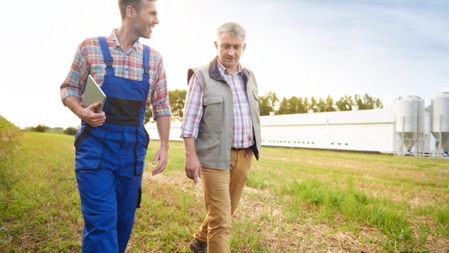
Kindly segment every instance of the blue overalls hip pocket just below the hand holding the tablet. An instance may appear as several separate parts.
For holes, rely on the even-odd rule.
[[[81,129],[80,129],[81,130]],[[75,170],[99,169],[107,127],[86,125],[76,137]]]

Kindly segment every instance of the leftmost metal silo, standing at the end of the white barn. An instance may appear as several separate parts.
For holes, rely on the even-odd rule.
[[[396,133],[401,138],[399,154],[409,153],[415,146],[415,156],[421,154],[424,140],[424,100],[407,96],[397,102]]]

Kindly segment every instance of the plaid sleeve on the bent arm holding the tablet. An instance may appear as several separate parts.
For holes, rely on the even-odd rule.
[[[90,72],[89,64],[84,61],[83,45],[84,43],[81,43],[76,48],[76,53],[68,71],[67,78],[60,85],[60,100],[64,106],[67,106],[64,100],[68,96],[73,95],[83,100],[84,87]]]

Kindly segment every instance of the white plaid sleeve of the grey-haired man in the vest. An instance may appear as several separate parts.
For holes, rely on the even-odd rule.
[[[194,137],[196,139],[199,122],[203,118],[203,99],[203,89],[198,84],[198,78],[193,74],[188,81],[184,117],[180,128],[181,138]]]

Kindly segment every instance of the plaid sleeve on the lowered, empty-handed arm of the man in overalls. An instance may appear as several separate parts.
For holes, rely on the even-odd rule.
[[[155,120],[161,116],[172,115],[172,106],[168,97],[167,80],[162,58],[157,66],[155,86],[151,89],[151,94],[148,95],[147,110],[149,104],[152,106],[153,118]]]

